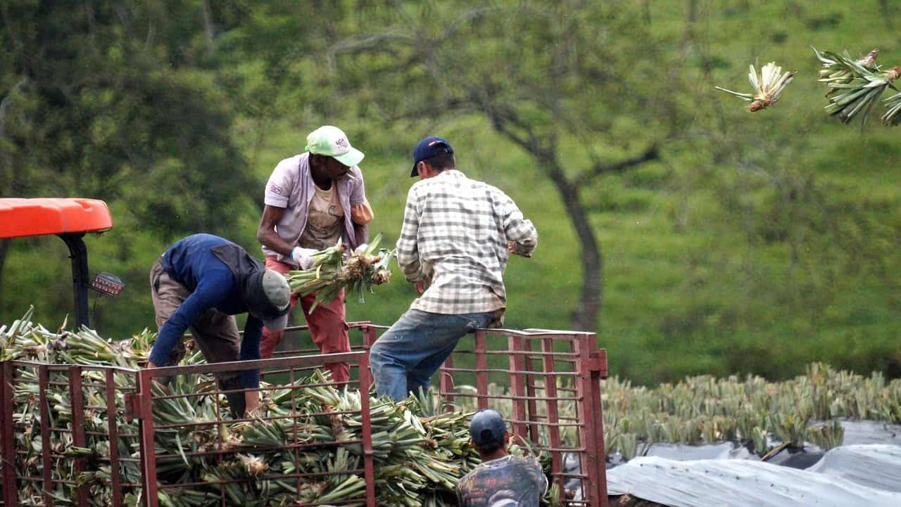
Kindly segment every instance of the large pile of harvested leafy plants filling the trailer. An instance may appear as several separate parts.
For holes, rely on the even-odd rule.
[[[90,505],[112,503],[110,453],[120,457],[123,504],[143,504],[137,424],[124,420],[123,392],[132,390],[137,370],[147,359],[154,333],[132,340],[104,340],[95,331],[57,332],[31,321],[31,311],[11,327],[0,326],[0,350],[5,360],[30,361],[16,367],[14,435],[16,474],[37,477],[19,481],[22,505],[44,504],[41,477],[44,437],[50,443],[52,477],[48,492],[59,505],[73,504],[76,488],[89,489]],[[115,353],[113,353],[115,352]],[[188,355],[183,364],[199,364],[202,355]],[[39,365],[78,364],[117,367],[114,371],[115,425],[111,441],[106,410],[105,372],[83,370],[84,445],[74,446],[72,400],[67,368],[49,369],[43,388],[50,400],[50,426],[62,429],[41,435]],[[166,386],[154,383],[152,403],[159,505],[214,507],[291,505],[316,502],[363,505],[361,394],[328,385],[321,371],[293,383],[263,383],[259,417],[223,421],[224,397],[215,394],[213,376],[179,375]],[[367,394],[363,394],[367,395]],[[469,413],[446,412],[430,399],[409,398],[395,403],[369,399],[369,421],[378,505],[456,505],[454,488],[477,465],[469,444]],[[512,452],[525,450],[514,447]],[[539,452],[539,451],[535,451]],[[547,453],[542,462],[550,463]],[[132,459],[128,459],[132,458]],[[81,460],[77,469],[75,460]],[[2,484],[0,484],[2,487]],[[557,490],[554,490],[555,492]]]

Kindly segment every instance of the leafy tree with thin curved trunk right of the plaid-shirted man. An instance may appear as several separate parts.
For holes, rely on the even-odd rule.
[[[362,114],[409,122],[478,113],[528,153],[581,243],[572,325],[595,330],[604,262],[584,192],[660,158],[678,117],[663,95],[669,85],[649,82],[669,67],[646,13],[630,2],[393,5],[363,8],[381,28],[332,45],[332,76],[365,96]]]

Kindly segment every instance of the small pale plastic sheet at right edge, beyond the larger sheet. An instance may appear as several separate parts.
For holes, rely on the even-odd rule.
[[[901,492],[901,447],[874,444],[833,448],[807,470],[843,477],[876,489]]]

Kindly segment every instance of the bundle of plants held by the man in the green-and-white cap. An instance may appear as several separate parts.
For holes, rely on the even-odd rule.
[[[396,251],[378,249],[381,240],[382,235],[378,234],[369,245],[360,245],[346,257],[346,247],[340,240],[333,247],[319,250],[313,256],[312,267],[287,274],[291,290],[301,295],[316,294],[310,312],[320,303],[332,303],[341,289],[355,294],[363,303],[373,285],[387,284],[391,279],[390,264]]]

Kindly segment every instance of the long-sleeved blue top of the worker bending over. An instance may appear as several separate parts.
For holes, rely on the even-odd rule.
[[[178,306],[176,312],[159,328],[159,335],[150,360],[158,366],[166,364],[169,354],[188,327],[200,318],[207,310],[215,308],[228,315],[248,312],[243,301],[243,279],[250,275],[250,267],[243,266],[238,277],[232,273],[223,260],[217,257],[213,248],[230,245],[241,249],[232,241],[212,234],[194,234],[172,245],[162,257],[162,267],[170,278],[185,285],[191,295]],[[241,249],[243,251],[243,249]],[[262,269],[262,263],[258,266]],[[239,279],[240,278],[240,279]],[[241,340],[241,360],[259,359],[259,340],[263,333],[263,322],[251,314],[244,325],[244,338]],[[259,386],[259,370],[241,373],[241,384],[244,387]]]

